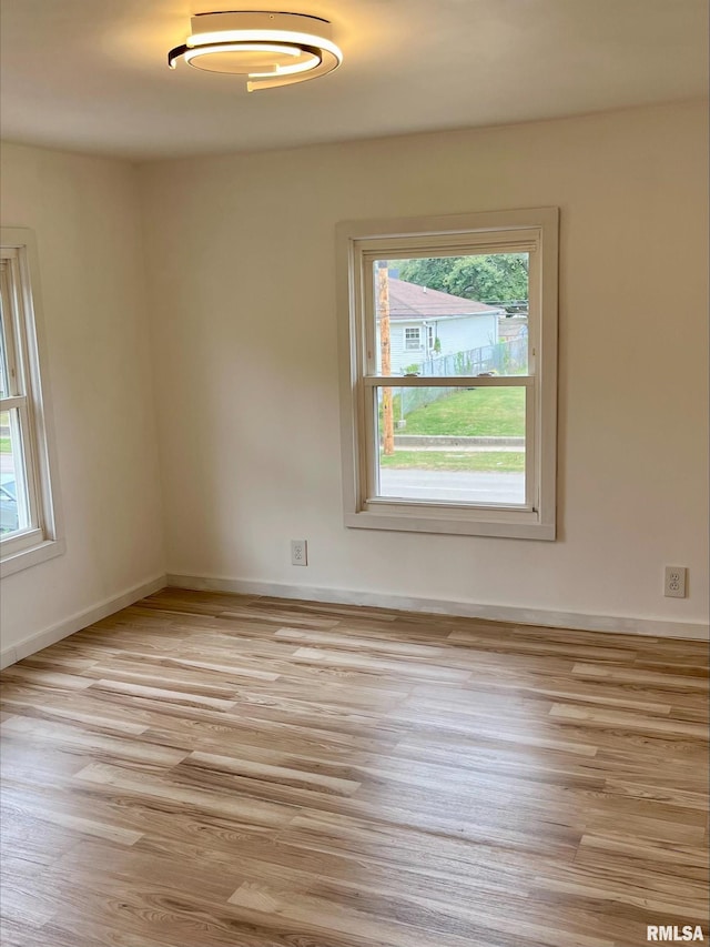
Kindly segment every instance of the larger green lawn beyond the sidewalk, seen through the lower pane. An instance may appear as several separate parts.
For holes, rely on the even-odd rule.
[[[395,417],[399,416],[398,407],[398,403],[395,404]],[[479,387],[445,395],[409,412],[407,426],[395,433],[521,437],[525,434],[525,389]]]

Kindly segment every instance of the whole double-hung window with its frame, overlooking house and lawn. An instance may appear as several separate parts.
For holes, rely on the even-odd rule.
[[[554,540],[557,209],[337,239],[345,524]]]

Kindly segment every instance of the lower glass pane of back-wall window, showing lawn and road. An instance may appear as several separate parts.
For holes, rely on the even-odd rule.
[[[525,504],[524,387],[383,387],[377,400],[378,496]]]

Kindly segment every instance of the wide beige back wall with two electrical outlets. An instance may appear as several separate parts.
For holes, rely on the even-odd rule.
[[[707,619],[706,107],[145,165],[169,572]],[[345,530],[335,223],[548,204],[559,541]]]

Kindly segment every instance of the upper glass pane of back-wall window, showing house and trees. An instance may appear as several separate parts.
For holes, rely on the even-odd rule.
[[[528,253],[376,260],[376,374],[527,374],[528,264]]]

